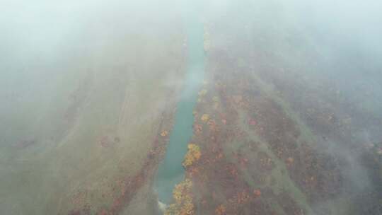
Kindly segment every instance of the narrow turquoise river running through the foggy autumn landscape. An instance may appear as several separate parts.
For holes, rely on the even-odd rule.
[[[196,16],[185,18],[187,26],[187,71],[183,92],[177,105],[175,123],[170,134],[166,155],[159,164],[155,180],[158,201],[168,204],[172,199],[173,187],[184,179],[182,162],[187,153],[193,129],[192,110],[197,102],[197,92],[204,78],[203,24]]]

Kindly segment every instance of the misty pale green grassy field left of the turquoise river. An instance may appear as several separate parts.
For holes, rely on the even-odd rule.
[[[2,212],[67,214],[86,204],[92,211],[112,204],[118,181],[144,162],[168,96],[182,79],[183,35],[161,35],[158,28],[95,36],[64,68],[42,65],[45,81],[36,67],[30,79],[14,77],[32,92],[16,89],[21,98],[1,112]],[[18,146],[29,139],[35,142]]]

